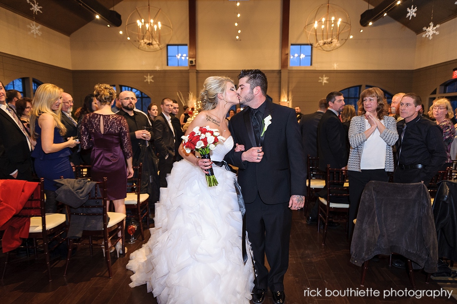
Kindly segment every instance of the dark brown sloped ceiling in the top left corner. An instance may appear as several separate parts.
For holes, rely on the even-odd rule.
[[[105,8],[112,10],[122,0],[96,0]],[[29,0],[35,4],[34,0]],[[94,13],[81,6],[76,0],[37,0],[42,7],[35,15],[35,20],[64,35],[70,36],[90,21],[95,19]],[[0,0],[0,6],[23,17],[34,19],[34,13],[27,0]]]

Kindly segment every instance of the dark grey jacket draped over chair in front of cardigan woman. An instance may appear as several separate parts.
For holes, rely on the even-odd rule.
[[[413,268],[437,271],[438,245],[427,187],[371,181],[365,187],[351,243],[351,262],[398,253]]]

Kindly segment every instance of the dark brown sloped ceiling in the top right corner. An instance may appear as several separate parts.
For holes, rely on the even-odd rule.
[[[384,0],[364,0],[371,6],[378,6],[385,3]],[[388,1],[387,1],[388,2]],[[391,0],[390,3],[394,3],[396,0]],[[408,14],[407,8],[411,9],[417,7],[416,17],[411,17],[411,20],[406,18]],[[368,9],[368,5],[367,5]],[[423,27],[428,27],[432,21],[432,9],[433,9],[433,23],[441,24],[457,17],[457,5],[455,0],[401,0],[400,5],[396,5],[390,10],[387,15],[390,18],[400,22],[404,26],[408,27],[416,34],[423,32]],[[373,23],[376,26],[376,22]]]

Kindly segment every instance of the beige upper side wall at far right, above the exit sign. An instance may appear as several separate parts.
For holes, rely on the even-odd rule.
[[[430,40],[417,35],[414,69],[457,59],[457,18],[440,24],[436,30],[440,33]]]

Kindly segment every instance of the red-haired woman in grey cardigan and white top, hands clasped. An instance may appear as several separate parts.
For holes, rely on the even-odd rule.
[[[349,127],[349,235],[353,230],[360,197],[369,181],[388,181],[394,171],[392,146],[398,140],[397,122],[388,116],[387,102],[380,88],[369,88],[360,94],[358,109]]]

